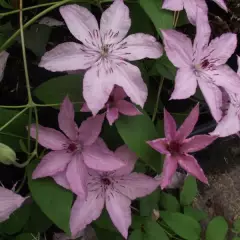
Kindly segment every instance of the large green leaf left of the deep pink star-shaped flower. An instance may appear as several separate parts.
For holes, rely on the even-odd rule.
[[[160,173],[161,155],[146,143],[148,140],[158,138],[158,133],[149,116],[146,113],[135,117],[121,116],[116,122],[116,127],[129,148]]]

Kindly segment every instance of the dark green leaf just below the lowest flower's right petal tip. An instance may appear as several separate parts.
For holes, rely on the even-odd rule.
[[[158,210],[158,202],[160,198],[159,189],[152,192],[150,195],[140,199],[140,215],[151,216],[153,209]]]

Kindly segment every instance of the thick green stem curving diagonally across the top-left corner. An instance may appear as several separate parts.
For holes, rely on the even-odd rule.
[[[41,18],[42,16],[44,16],[45,14],[47,14],[48,12],[51,12],[53,9],[60,7],[61,5],[71,2],[72,0],[63,0],[59,3],[56,3],[54,5],[52,5],[51,7],[45,9],[44,11],[40,12],[39,14],[37,14],[36,16],[34,16],[31,20],[29,20],[27,23],[25,23],[22,26],[22,30],[29,27],[31,24],[33,24],[36,20],[38,20],[39,18]],[[21,8],[20,8],[21,9]],[[20,11],[21,12],[21,11]],[[18,29],[2,46],[0,51],[5,50],[8,45],[21,33],[21,29]]]

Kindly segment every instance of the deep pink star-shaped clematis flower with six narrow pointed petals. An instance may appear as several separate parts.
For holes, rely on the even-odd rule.
[[[204,149],[217,137],[210,135],[197,135],[187,139],[197,123],[199,106],[196,105],[182,126],[176,130],[176,122],[173,117],[164,110],[164,131],[166,138],[148,141],[147,143],[156,151],[165,154],[163,173],[161,175],[161,188],[166,188],[172,183],[178,164],[189,174],[200,181],[207,183],[208,180],[197,160],[188,153]]]

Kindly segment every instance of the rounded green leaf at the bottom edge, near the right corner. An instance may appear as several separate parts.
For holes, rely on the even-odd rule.
[[[228,224],[223,217],[215,217],[208,224],[206,240],[225,240],[228,232]]]

